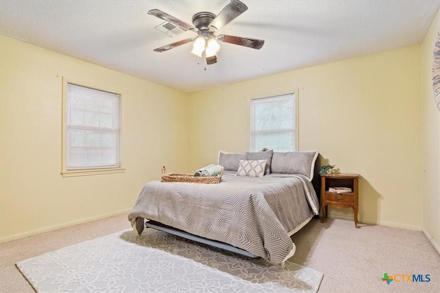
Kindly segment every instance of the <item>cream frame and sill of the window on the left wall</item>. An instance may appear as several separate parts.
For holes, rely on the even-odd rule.
[[[87,175],[98,175],[98,174],[113,174],[113,173],[121,173],[124,172],[125,169],[122,167],[122,148],[121,148],[121,139],[122,139],[122,95],[120,93],[114,93],[119,97],[119,113],[120,113],[120,128],[119,128],[119,158],[118,165],[109,166],[109,167],[82,167],[75,169],[67,169],[67,98],[68,98],[68,86],[69,84],[75,86],[82,86],[88,89],[94,89],[97,91],[104,91],[107,93],[113,93],[113,91],[106,91],[104,89],[100,89],[98,86],[90,86],[85,82],[74,82],[67,78],[63,78],[63,133],[62,133],[62,169],[61,175],[63,177],[72,177],[72,176],[87,176]]]

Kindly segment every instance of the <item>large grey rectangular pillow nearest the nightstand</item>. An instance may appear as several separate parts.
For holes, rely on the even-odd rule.
[[[308,152],[274,152],[272,164],[270,165],[271,172],[301,174],[311,181],[314,178],[316,158],[318,158],[317,150]]]

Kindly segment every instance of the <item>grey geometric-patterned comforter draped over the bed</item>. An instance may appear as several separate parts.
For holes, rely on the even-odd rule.
[[[305,176],[225,174],[219,184],[147,183],[129,220],[161,222],[279,264],[294,249],[287,232],[318,211],[318,198]]]

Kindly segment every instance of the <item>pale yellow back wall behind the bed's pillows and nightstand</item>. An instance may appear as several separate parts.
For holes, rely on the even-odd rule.
[[[191,93],[190,166],[250,148],[250,99],[299,90],[300,150],[359,173],[361,222],[421,228],[420,46]],[[351,218],[350,209],[330,209]]]

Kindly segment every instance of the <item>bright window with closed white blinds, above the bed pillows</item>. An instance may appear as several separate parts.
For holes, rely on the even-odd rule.
[[[252,99],[251,150],[269,148],[275,152],[297,150],[296,93]]]

